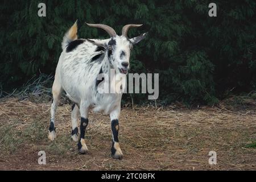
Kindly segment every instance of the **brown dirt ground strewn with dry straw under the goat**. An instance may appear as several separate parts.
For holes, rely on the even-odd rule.
[[[86,130],[89,154],[71,139],[71,106],[57,109],[57,139],[47,139],[51,103],[9,98],[0,101],[0,169],[25,170],[256,170],[256,108],[188,110],[123,108],[119,141],[123,160],[110,157],[108,116],[91,113]],[[38,152],[46,151],[46,165]],[[208,163],[217,152],[217,165]]]

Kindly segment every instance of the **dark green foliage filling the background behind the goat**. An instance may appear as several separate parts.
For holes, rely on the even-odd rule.
[[[0,6],[1,86],[11,90],[34,74],[54,73],[61,40],[79,19],[80,38],[108,38],[84,22],[104,23],[121,34],[128,23],[143,23],[129,37],[148,32],[131,55],[132,73],[159,73],[159,99],[187,104],[216,104],[217,98],[250,92],[256,86],[256,3],[214,1],[2,1]],[[130,95],[126,94],[130,100]],[[135,102],[146,101],[133,94]]]

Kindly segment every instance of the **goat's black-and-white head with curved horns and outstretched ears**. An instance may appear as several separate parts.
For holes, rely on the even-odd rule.
[[[88,23],[86,23],[88,24]],[[88,24],[90,27],[102,28],[110,35],[110,39],[107,42],[102,42],[102,40],[90,40],[96,46],[104,47],[108,55],[109,63],[115,69],[116,72],[127,74],[130,68],[130,52],[133,49],[133,45],[140,42],[146,37],[146,33],[135,38],[127,38],[127,32],[131,27],[140,27],[142,24],[127,24],[122,29],[122,35],[118,36],[112,27],[105,24]]]

